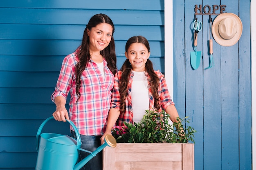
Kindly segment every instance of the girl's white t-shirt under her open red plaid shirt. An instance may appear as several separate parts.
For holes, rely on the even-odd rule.
[[[138,123],[149,109],[148,80],[145,72],[134,72],[132,78],[133,121]]]

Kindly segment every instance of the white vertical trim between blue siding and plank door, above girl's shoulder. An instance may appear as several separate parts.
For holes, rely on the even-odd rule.
[[[173,0],[164,0],[164,74],[173,99]]]

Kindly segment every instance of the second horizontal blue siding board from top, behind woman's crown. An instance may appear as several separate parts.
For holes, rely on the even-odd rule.
[[[164,11],[94,9],[2,8],[3,24],[79,24],[85,25],[97,13],[108,15],[115,25],[164,25]],[[54,17],[52,17],[54,16]],[[125,20],[124,20],[125,18]]]

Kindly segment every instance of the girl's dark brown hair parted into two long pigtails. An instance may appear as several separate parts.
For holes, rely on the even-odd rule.
[[[148,40],[145,37],[142,36],[134,36],[128,39],[125,46],[125,51],[128,52],[128,48],[132,43],[141,43],[144,44],[144,46],[148,49],[148,52],[150,52],[150,47]],[[150,61],[150,59],[147,60],[145,63],[145,71],[150,76],[150,82],[149,82],[149,88],[151,88],[153,97],[154,97],[154,107],[155,109],[159,110],[159,96],[158,96],[158,85],[159,85],[159,77],[157,74],[155,74],[153,63]],[[129,59],[126,59],[124,64],[122,65],[121,69],[122,75],[120,80],[120,112],[125,112],[126,106],[125,106],[125,98],[128,95],[128,80],[130,76],[130,71],[132,70],[132,66],[129,62]]]

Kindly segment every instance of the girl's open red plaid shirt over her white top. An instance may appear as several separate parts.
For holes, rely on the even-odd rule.
[[[162,111],[162,109],[165,109],[167,106],[169,105],[174,105],[174,102],[171,100],[171,96],[169,94],[168,91],[168,87],[166,85],[166,80],[164,78],[164,75],[159,72],[159,71],[155,71],[155,73],[158,75],[159,77],[159,86],[158,86],[158,95],[160,97],[159,100],[159,105],[161,106],[161,108],[159,109],[159,111]],[[115,108],[115,109],[120,109],[120,88],[119,88],[119,81],[121,78],[121,74],[122,72],[119,70],[116,75],[115,75],[115,83],[114,83],[114,89],[112,92],[112,102],[110,105],[110,108]],[[147,79],[148,79],[148,84],[149,84],[149,79],[150,77],[148,76],[147,73],[145,73]],[[134,76],[134,73],[131,71],[130,73],[130,77],[128,80],[128,96],[125,99],[126,102],[126,111],[124,113],[120,112],[120,116],[117,119],[116,125],[117,126],[123,126],[125,125],[124,122],[128,122],[128,123],[133,123],[133,113],[132,113],[132,97],[131,97],[131,90],[132,90],[132,77]],[[149,95],[149,107],[150,108],[155,108],[154,107],[154,97],[152,94],[152,90],[149,86],[148,89],[148,95]]]

